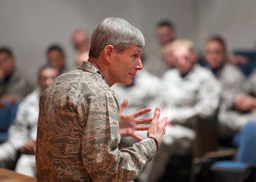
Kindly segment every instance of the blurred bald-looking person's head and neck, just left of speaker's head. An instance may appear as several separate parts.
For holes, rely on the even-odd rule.
[[[72,34],[73,47],[77,52],[76,66],[79,66],[82,61],[87,61],[89,58],[90,40],[87,31],[78,29]]]

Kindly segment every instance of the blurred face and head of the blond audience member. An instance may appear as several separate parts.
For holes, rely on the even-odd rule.
[[[186,74],[194,66],[196,62],[196,53],[189,50],[187,47],[179,47],[173,51],[176,67],[181,74]]]

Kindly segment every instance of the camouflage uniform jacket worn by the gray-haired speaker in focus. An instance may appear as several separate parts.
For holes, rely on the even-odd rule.
[[[129,181],[156,154],[150,138],[118,149],[118,102],[90,62],[53,81],[38,117],[38,181]]]

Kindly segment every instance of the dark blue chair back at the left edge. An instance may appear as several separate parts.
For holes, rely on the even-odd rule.
[[[5,107],[0,109],[0,143],[8,139],[8,129],[16,118],[19,102],[5,103]]]

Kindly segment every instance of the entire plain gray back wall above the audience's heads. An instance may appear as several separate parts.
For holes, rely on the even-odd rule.
[[[73,65],[70,34],[77,27],[91,33],[99,20],[127,19],[156,42],[154,25],[161,19],[176,24],[178,36],[202,48],[210,33],[221,33],[233,48],[252,48],[256,37],[254,0],[0,0],[0,45],[13,48],[17,64],[36,72],[52,43],[63,45]]]

